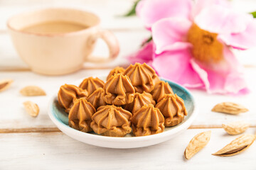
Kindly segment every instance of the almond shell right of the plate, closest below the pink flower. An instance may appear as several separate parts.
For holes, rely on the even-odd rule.
[[[212,111],[238,115],[239,113],[245,113],[249,110],[237,103],[223,102],[223,103],[218,103],[216,106],[214,106]]]

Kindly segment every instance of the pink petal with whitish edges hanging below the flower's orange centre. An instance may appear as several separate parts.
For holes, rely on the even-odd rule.
[[[223,69],[211,69],[204,67],[195,60],[191,60],[193,69],[201,77],[206,91],[210,94],[245,94],[247,85],[242,74],[242,67],[235,59],[233,53],[225,47],[224,55],[226,67]],[[215,68],[218,68],[215,66]]]

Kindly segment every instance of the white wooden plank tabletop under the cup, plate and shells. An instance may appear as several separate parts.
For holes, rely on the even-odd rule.
[[[255,1],[234,0],[238,11],[256,11]],[[139,149],[107,149],[78,142],[60,132],[47,115],[50,95],[60,85],[107,73],[114,66],[127,64],[124,56],[137,50],[149,33],[136,17],[121,18],[131,0],[2,0],[0,1],[0,79],[14,79],[11,88],[0,94],[0,169],[256,169],[256,144],[235,157],[214,157],[218,151],[237,136],[230,136],[221,128],[222,123],[246,120],[251,123],[247,133],[256,130],[256,60],[255,49],[236,52],[245,65],[245,76],[251,93],[247,96],[209,95],[192,90],[198,103],[198,118],[193,125],[174,140]],[[102,28],[112,30],[121,45],[119,58],[111,64],[95,69],[85,64],[85,69],[61,77],[34,74],[16,54],[6,31],[6,20],[15,13],[46,6],[68,6],[97,13],[102,18]],[[103,49],[103,50],[102,50]],[[105,54],[107,47],[99,42],[95,53]],[[23,97],[18,91],[23,86],[38,85],[47,96]],[[38,103],[41,111],[31,118],[23,109],[23,101]],[[241,103],[249,112],[240,115],[213,113],[210,109],[223,101]],[[192,159],[183,159],[183,151],[198,132],[212,131],[210,142]]]

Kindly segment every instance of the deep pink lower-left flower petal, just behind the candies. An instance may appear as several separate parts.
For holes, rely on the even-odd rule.
[[[203,86],[198,74],[190,64],[191,53],[188,49],[163,52],[154,58],[152,66],[159,76],[189,88],[199,88]]]

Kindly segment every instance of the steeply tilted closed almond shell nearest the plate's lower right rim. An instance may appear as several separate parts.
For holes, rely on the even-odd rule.
[[[199,152],[203,147],[206,147],[210,140],[211,131],[201,132],[188,143],[188,147],[186,147],[184,152],[184,157],[186,159],[191,159],[194,154]]]

